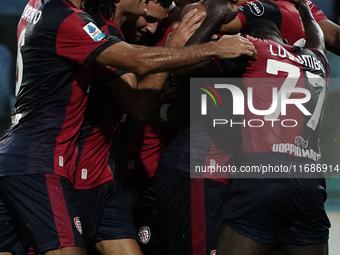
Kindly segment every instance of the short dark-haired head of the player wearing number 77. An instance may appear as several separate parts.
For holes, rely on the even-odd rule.
[[[241,34],[250,35],[255,38],[271,39],[283,43],[280,30],[275,23],[270,20],[260,19],[248,22],[241,29]]]

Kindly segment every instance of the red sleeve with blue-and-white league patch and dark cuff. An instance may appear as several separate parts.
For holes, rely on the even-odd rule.
[[[59,56],[88,66],[106,48],[120,41],[103,33],[87,14],[75,12],[60,25],[56,50]]]

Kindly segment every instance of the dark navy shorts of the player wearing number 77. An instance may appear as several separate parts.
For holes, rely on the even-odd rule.
[[[244,164],[289,168],[307,162],[278,153],[255,153]],[[328,240],[330,222],[324,208],[327,194],[322,174],[292,171],[285,178],[236,175],[222,207],[223,218],[235,231],[264,245],[313,245]]]

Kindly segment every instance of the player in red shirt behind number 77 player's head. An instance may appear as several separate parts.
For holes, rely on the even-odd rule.
[[[251,20],[269,19],[273,21],[280,29],[283,38],[289,44],[298,43],[303,46],[305,36],[301,29],[301,22],[297,20],[298,12],[292,8],[294,1],[290,0],[270,0],[270,1],[249,1],[238,0],[231,1],[240,7],[238,16],[230,23],[221,28],[221,33],[237,33],[242,26]],[[247,2],[249,2],[247,4]],[[311,0],[306,0],[315,20],[318,22],[324,32],[326,49],[340,56],[340,27],[333,23],[317,8]],[[286,33],[294,28],[294,33]]]

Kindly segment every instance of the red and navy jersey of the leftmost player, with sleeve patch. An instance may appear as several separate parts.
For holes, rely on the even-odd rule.
[[[0,176],[56,173],[73,181],[91,63],[120,41],[67,0],[28,3],[18,25],[18,94],[0,145]]]

